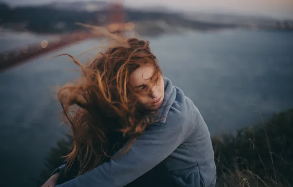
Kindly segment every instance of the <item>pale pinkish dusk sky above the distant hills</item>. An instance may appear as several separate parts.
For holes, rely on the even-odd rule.
[[[0,0],[10,4],[43,4],[53,0]],[[57,0],[56,0],[57,1]],[[58,0],[59,2],[89,0]],[[94,0],[91,0],[94,1]],[[98,0],[97,0],[98,1]],[[109,0],[107,0],[109,1]],[[293,19],[293,0],[123,0],[135,7],[162,6],[185,11],[233,12]]]

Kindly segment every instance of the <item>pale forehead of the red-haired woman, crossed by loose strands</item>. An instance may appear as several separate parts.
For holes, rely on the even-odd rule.
[[[130,82],[134,86],[140,86],[143,84],[147,84],[151,79],[154,73],[154,67],[152,64],[144,64],[137,68],[131,75],[130,75]]]

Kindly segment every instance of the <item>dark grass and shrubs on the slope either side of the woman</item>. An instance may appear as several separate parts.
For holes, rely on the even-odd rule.
[[[274,115],[268,122],[212,138],[218,187],[293,186],[293,109]],[[64,160],[70,136],[60,140],[46,158],[38,185]]]

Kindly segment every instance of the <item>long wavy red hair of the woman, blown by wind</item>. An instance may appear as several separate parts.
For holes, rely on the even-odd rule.
[[[71,57],[82,72],[74,84],[64,85],[58,92],[63,122],[70,126],[73,137],[72,151],[64,156],[67,169],[78,160],[79,175],[104,162],[115,132],[121,132],[133,142],[147,125],[153,123],[150,117],[153,112],[140,107],[137,100],[140,93],[129,82],[131,73],[146,63],[154,66],[150,82],[159,79],[161,69],[149,42],[119,35],[108,36],[116,44],[98,53],[88,66],[71,55],[62,54]],[[124,153],[130,146],[131,143]]]

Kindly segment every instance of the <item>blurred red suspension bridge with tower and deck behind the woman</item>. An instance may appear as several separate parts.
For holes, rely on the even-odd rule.
[[[121,3],[113,3],[109,8],[109,25],[108,30],[111,32],[121,32],[125,29],[124,24],[124,11]],[[38,56],[50,53],[54,50],[58,50],[62,47],[66,47],[76,42],[81,42],[85,39],[98,37],[91,32],[78,31],[70,34],[61,34],[60,39],[55,41],[42,41],[41,44],[33,44],[30,46],[24,46],[20,49],[15,49],[0,53],[0,71],[4,71],[8,68],[23,62],[28,62]]]

